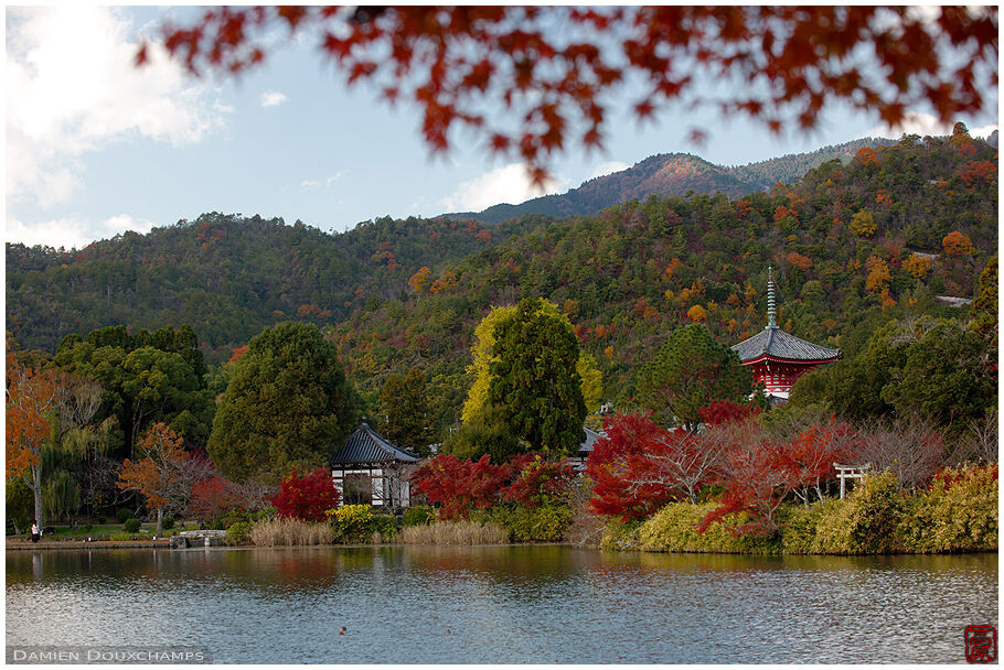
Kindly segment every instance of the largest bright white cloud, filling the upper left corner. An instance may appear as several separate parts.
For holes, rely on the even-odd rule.
[[[65,4],[7,10],[7,191],[41,206],[83,184],[81,158],[130,137],[199,142],[226,108],[150,45],[135,66],[125,10]]]

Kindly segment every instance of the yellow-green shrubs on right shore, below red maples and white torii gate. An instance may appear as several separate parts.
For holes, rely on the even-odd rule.
[[[607,525],[601,547],[617,550],[762,553],[887,554],[997,551],[997,468],[947,471],[926,490],[899,490],[895,475],[866,477],[841,499],[787,505],[780,530],[741,534],[747,512],[697,525],[716,502],[673,502],[643,521]]]

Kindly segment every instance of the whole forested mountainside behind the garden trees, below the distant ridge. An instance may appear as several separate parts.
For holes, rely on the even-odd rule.
[[[557,303],[606,398],[627,408],[667,332],[702,322],[734,344],[763,326],[768,266],[779,324],[851,356],[891,318],[961,315],[933,298],[973,298],[996,251],[996,150],[963,133],[908,137],[738,199],[652,196],[491,228],[378,219],[341,235],[207,214],[74,253],[8,245],[7,316],[23,347],[47,350],[98,326],[186,323],[210,363],[264,325],[310,321],[371,411],[391,374],[421,368],[441,429],[459,414],[471,333],[491,305]]]

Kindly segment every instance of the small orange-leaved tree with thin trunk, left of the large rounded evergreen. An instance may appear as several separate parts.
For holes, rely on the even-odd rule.
[[[146,454],[140,461],[126,458],[118,475],[118,487],[138,491],[147,499],[147,509],[157,510],[157,537],[163,534],[163,510],[179,502],[190,489],[182,471],[188,454],[182,440],[164,423],[154,423],[137,445]]]

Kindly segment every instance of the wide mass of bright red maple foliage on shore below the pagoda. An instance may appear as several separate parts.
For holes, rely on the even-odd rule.
[[[777,439],[751,420],[757,413],[751,406],[715,403],[702,409],[706,423],[698,434],[663,429],[642,414],[608,419],[606,437],[587,462],[590,508],[622,520],[642,518],[673,500],[695,502],[702,488],[717,484],[724,494],[702,531],[737,512],[749,515],[737,532],[778,530],[781,502],[791,494],[807,502],[822,498],[833,463],[854,450],[855,436],[847,424],[830,421]]]

